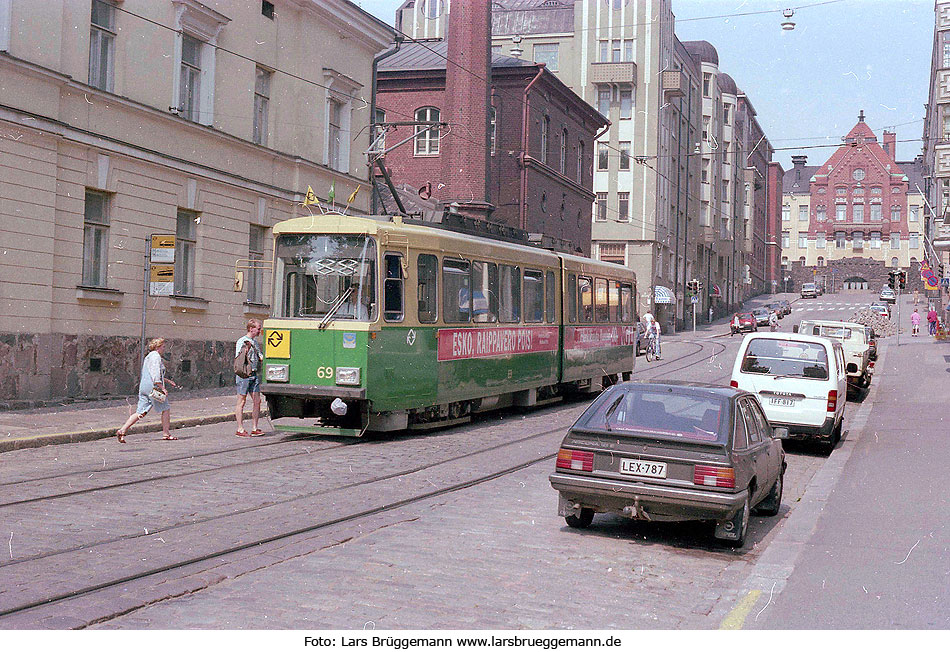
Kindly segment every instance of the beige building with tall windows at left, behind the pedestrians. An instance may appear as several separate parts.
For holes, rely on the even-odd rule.
[[[346,0],[0,0],[0,403],[134,391],[143,301],[170,377],[232,383],[270,311],[269,271],[236,293],[235,270],[307,186],[366,187],[391,41]],[[177,236],[170,296],[144,295],[153,234]]]

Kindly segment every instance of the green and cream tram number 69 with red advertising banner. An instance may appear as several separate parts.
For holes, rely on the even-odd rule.
[[[274,247],[261,391],[278,430],[444,426],[632,374],[621,265],[399,216],[290,219]]]

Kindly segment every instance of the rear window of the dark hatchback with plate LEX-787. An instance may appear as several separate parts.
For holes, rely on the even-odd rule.
[[[725,412],[725,400],[716,396],[666,389],[619,389],[605,394],[574,427],[724,444]]]

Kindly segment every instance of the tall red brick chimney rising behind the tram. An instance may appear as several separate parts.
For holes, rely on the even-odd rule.
[[[449,15],[439,198],[464,215],[488,219],[488,106],[491,89],[491,3],[453,0]]]

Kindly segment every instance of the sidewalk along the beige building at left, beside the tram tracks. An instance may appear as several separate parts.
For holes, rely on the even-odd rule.
[[[69,404],[59,408],[13,410],[0,412],[0,453],[20,448],[36,448],[49,444],[70,444],[115,437],[129,410],[135,409],[136,397],[85,404]],[[190,428],[208,423],[234,420],[236,396],[233,387],[190,392],[172,391],[171,428]],[[262,399],[262,418],[267,406]],[[251,400],[245,405],[250,418]],[[149,414],[129,429],[132,434],[161,431],[161,420]]]

